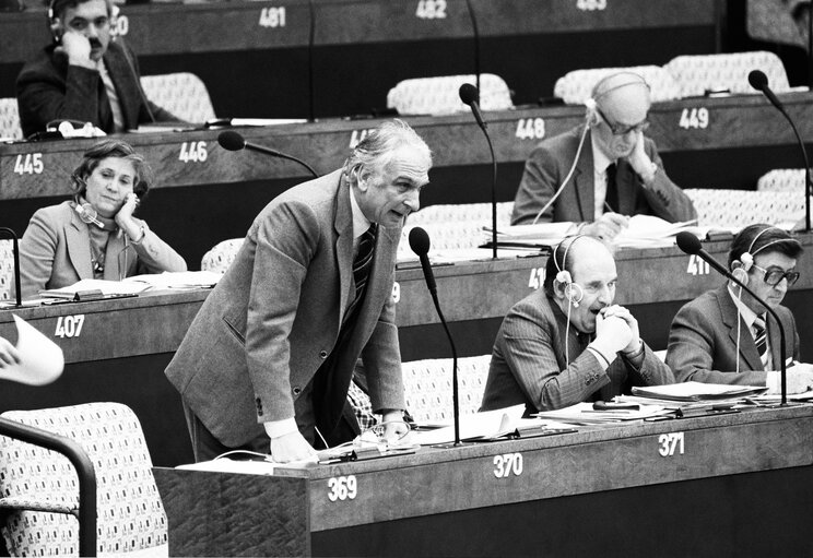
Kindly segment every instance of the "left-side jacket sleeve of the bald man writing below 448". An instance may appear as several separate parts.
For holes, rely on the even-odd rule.
[[[526,161],[522,180],[514,199],[511,225],[533,223],[537,213],[551,201],[558,185],[559,173],[554,155],[544,145],[538,146]],[[554,206],[551,204],[537,223],[551,223]]]

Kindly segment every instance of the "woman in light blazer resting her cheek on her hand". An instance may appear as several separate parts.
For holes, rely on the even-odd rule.
[[[184,259],[133,216],[150,181],[150,167],[128,143],[105,140],[87,150],[71,175],[71,200],[34,213],[20,241],[23,297],[82,278],[186,271]]]

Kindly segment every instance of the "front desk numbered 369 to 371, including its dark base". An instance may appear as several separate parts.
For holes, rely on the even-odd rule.
[[[812,448],[802,406],[154,474],[172,556],[804,556]]]

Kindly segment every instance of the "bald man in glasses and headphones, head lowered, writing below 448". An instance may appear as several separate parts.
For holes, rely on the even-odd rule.
[[[697,217],[663,170],[648,128],[649,85],[633,72],[600,80],[584,124],[544,140],[526,162],[512,225],[573,221],[579,233],[611,239],[629,215],[670,223]]]

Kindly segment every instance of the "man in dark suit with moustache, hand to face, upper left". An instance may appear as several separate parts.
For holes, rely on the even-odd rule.
[[[51,1],[54,44],[16,80],[26,138],[59,120],[91,122],[107,133],[179,120],[143,94],[136,55],[113,40],[113,10],[110,0]]]

